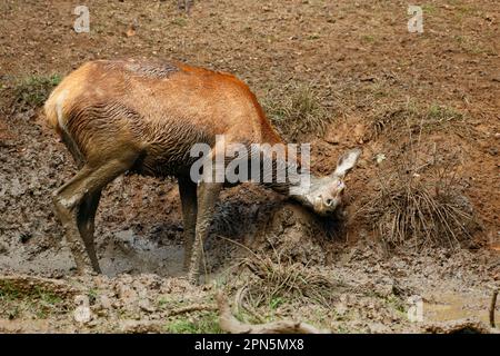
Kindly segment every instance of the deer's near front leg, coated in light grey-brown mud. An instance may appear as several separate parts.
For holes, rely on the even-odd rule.
[[[210,222],[212,221],[216,202],[222,189],[221,182],[200,184],[198,191],[198,217],[196,226],[194,244],[192,246],[188,279],[191,284],[198,284],[200,267],[203,257],[203,241],[207,238]]]

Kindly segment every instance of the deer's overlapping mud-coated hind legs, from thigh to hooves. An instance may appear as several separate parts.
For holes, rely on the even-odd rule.
[[[132,167],[136,157],[128,155],[99,167],[86,165],[53,194],[56,214],[61,220],[79,274],[100,270],[91,234],[98,197],[106,185]]]

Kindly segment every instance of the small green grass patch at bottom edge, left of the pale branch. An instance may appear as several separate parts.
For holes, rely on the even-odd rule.
[[[200,314],[198,317],[178,318],[166,326],[172,334],[221,334],[219,317],[214,312]]]

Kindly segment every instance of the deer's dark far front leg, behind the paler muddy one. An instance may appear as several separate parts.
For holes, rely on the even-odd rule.
[[[182,220],[184,224],[184,269],[188,269],[191,260],[197,226],[197,184],[193,182],[190,177],[179,177],[179,194],[182,204]]]

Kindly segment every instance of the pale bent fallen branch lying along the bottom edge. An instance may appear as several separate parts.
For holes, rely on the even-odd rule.
[[[294,320],[279,320],[266,324],[246,324],[238,320],[232,314],[229,301],[222,291],[217,295],[219,306],[219,325],[224,332],[231,334],[329,334],[310,324]]]

